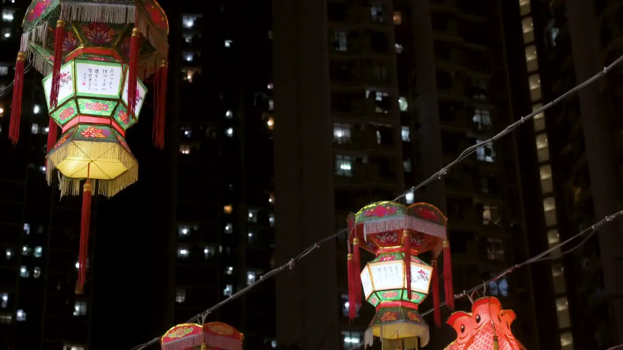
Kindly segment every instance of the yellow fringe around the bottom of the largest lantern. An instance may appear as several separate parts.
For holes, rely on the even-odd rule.
[[[71,141],[74,145],[64,145],[47,155],[45,163],[45,178],[47,184],[52,182],[52,171],[56,164],[68,158],[84,158],[88,154],[90,159],[106,158],[118,159],[127,169],[124,173],[113,179],[90,179],[92,186],[97,187],[97,193],[106,197],[112,197],[121,190],[138,181],[138,162],[132,154],[117,143],[92,141]],[[60,184],[60,197],[78,196],[80,194],[80,179],[65,177]],[[95,190],[93,190],[95,192]]]

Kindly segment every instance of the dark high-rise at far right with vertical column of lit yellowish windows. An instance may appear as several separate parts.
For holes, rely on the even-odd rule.
[[[527,114],[618,59],[620,1],[506,2],[513,105]],[[523,204],[532,254],[621,210],[621,67],[535,116],[518,133]],[[582,238],[584,239],[584,237]],[[621,223],[607,223],[573,253],[533,269],[541,346],[607,349],[621,344]]]

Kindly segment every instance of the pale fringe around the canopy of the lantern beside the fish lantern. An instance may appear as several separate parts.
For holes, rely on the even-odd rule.
[[[364,237],[394,230],[414,230],[426,232],[428,235],[433,235],[443,240],[447,239],[445,226],[412,216],[391,217],[389,219],[367,221],[362,224]]]

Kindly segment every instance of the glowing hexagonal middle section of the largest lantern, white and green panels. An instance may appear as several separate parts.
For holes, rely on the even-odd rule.
[[[49,110],[52,119],[69,130],[77,123],[110,125],[121,135],[138,121],[147,93],[138,80],[136,109],[128,113],[128,68],[120,62],[70,60],[60,69],[59,104]],[[43,79],[50,109],[52,75]]]

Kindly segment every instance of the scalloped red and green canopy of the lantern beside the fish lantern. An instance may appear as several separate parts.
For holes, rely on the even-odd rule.
[[[362,248],[376,254],[381,248],[402,247],[402,235],[407,232],[412,250],[433,250],[437,255],[447,239],[446,224],[445,215],[432,204],[407,207],[397,202],[374,202],[348,215],[348,238],[351,242],[358,239]]]

